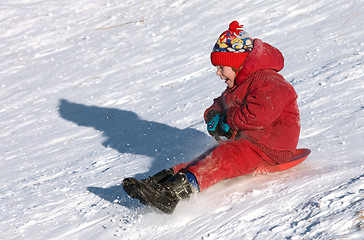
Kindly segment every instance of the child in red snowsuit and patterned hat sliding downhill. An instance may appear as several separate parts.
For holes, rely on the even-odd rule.
[[[242,27],[231,22],[211,53],[216,74],[227,88],[204,118],[208,132],[220,144],[190,163],[148,179],[124,179],[124,190],[131,197],[172,213],[179,200],[192,193],[292,157],[300,132],[299,111],[294,88],[278,74],[283,56],[260,39],[253,41]]]

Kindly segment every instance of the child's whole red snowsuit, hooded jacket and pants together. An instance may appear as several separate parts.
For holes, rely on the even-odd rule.
[[[236,85],[205,111],[205,120],[212,109],[226,113],[237,137],[190,163],[174,166],[174,171],[193,173],[203,190],[221,180],[250,174],[259,166],[287,162],[296,149],[300,124],[297,94],[277,73],[283,66],[278,49],[255,39]]]

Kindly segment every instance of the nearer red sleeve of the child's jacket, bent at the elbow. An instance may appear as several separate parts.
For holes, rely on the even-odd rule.
[[[233,130],[259,130],[270,126],[287,104],[289,89],[284,84],[264,83],[246,95],[240,106],[228,110]]]

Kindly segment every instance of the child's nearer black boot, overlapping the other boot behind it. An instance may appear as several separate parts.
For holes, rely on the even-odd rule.
[[[160,183],[146,184],[134,178],[128,180],[129,184],[124,184],[124,181],[123,187],[131,197],[139,199],[143,204],[153,205],[168,214],[173,213],[179,200],[189,198],[194,192],[186,174],[181,172]]]

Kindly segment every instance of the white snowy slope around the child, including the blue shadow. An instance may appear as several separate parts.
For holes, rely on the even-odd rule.
[[[3,0],[0,239],[364,239],[361,0]],[[298,92],[281,173],[219,183],[163,215],[130,199],[214,145],[225,84],[209,54],[238,20],[278,47]]]

